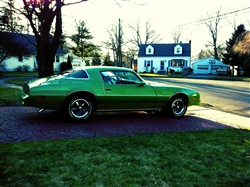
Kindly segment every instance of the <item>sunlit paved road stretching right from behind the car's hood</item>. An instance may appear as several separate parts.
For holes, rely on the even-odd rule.
[[[218,110],[250,117],[250,82],[177,78],[146,80],[196,89],[201,94],[202,103]]]

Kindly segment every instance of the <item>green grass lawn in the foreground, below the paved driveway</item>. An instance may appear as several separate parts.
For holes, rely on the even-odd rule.
[[[0,144],[0,184],[250,186],[250,131],[221,129]]]

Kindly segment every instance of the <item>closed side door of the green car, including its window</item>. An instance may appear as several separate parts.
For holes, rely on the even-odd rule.
[[[154,89],[130,71],[102,72],[105,109],[148,109],[156,101]],[[105,78],[104,78],[105,77]]]

